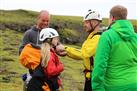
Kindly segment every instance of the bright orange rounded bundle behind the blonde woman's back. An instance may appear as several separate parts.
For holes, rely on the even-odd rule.
[[[21,64],[28,68],[34,70],[40,63],[41,54],[40,54],[40,48],[35,48],[31,44],[27,44],[20,56],[19,60]]]

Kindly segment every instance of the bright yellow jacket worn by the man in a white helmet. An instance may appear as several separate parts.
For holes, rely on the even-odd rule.
[[[81,49],[66,47],[67,55],[76,60],[84,60],[85,69],[92,70],[93,67],[90,66],[90,58],[95,55],[99,38],[100,34],[97,34],[97,32],[90,33]],[[86,77],[90,78],[90,72],[86,73]]]

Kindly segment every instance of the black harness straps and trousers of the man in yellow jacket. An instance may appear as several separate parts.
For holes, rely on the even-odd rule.
[[[95,36],[95,35],[101,35],[102,34],[102,32],[97,32],[97,33],[95,33],[92,37],[91,37],[91,39]],[[90,57],[90,70],[89,69],[85,69],[83,72],[84,72],[84,74],[85,74],[85,87],[84,87],[84,91],[92,91],[92,88],[91,88],[91,78],[87,78],[86,77],[86,74],[88,73],[88,72],[90,72],[90,73],[92,73],[92,70],[91,70],[91,66],[93,66],[94,65],[94,60],[93,60],[93,56],[91,56]]]

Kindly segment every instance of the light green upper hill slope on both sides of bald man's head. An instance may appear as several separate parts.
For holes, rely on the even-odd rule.
[[[0,10],[0,24],[8,25],[34,25],[38,12],[28,10]],[[60,28],[82,29],[82,17],[76,16],[58,16],[51,15],[50,26],[59,26]],[[22,29],[23,30],[23,29]]]

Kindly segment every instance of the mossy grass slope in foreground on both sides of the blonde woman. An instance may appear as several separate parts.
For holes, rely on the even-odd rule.
[[[0,91],[23,91],[21,75],[27,70],[18,59],[18,48],[23,33],[5,29],[0,30],[0,34]],[[65,65],[65,70],[61,74],[65,91],[82,91],[82,61],[68,57],[61,57],[61,61]]]

